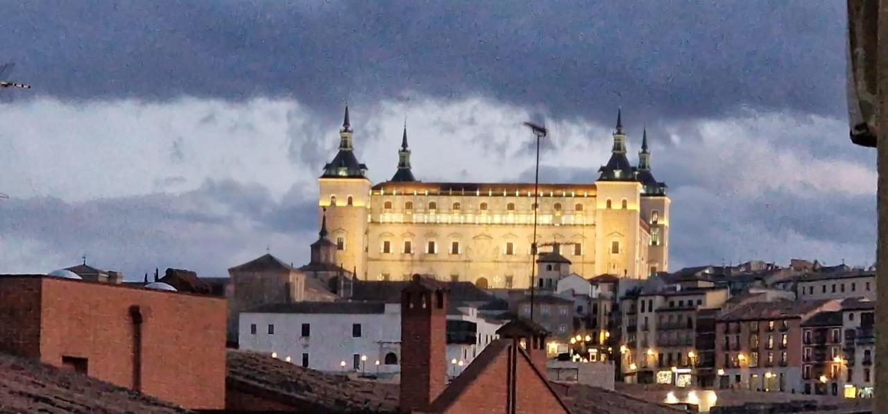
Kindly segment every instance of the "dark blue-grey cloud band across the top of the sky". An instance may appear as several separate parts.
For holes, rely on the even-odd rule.
[[[612,122],[844,107],[842,2],[15,2],[0,58],[67,99],[402,92]]]

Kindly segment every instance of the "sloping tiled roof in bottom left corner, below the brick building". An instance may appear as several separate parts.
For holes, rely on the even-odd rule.
[[[186,412],[99,379],[9,354],[0,354],[0,411]]]

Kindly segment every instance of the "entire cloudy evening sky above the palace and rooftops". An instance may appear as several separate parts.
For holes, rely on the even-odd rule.
[[[702,4],[705,3],[705,4]],[[771,4],[769,4],[771,3]],[[342,108],[375,182],[589,182],[617,107],[670,186],[673,269],[875,258],[843,2],[20,2],[0,60],[0,273],[306,261]]]

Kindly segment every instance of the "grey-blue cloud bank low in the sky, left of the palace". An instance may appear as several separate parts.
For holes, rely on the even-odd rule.
[[[256,257],[266,246],[281,259],[300,260],[316,237],[316,218],[314,204],[294,198],[294,191],[278,202],[264,187],[226,180],[207,181],[182,195],[83,203],[46,197],[6,200],[0,203],[0,246],[10,244],[0,255],[0,268],[38,266],[46,258],[61,259],[44,267],[71,266],[86,253],[92,264],[123,270],[128,279],[154,267],[221,276],[238,264],[236,257]],[[40,246],[33,256],[12,253],[12,247],[28,243]]]

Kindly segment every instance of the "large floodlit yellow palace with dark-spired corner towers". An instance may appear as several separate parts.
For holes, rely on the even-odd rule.
[[[373,185],[354,155],[348,107],[339,150],[324,167],[326,215],[336,260],[366,280],[435,275],[480,287],[530,283],[534,184],[423,182],[410,170],[407,128],[392,179]],[[559,250],[583,277],[646,278],[669,267],[670,199],[651,172],[646,131],[638,165],[626,157],[617,115],[614,148],[589,184],[540,184],[539,251]],[[546,245],[543,246],[543,243]]]

